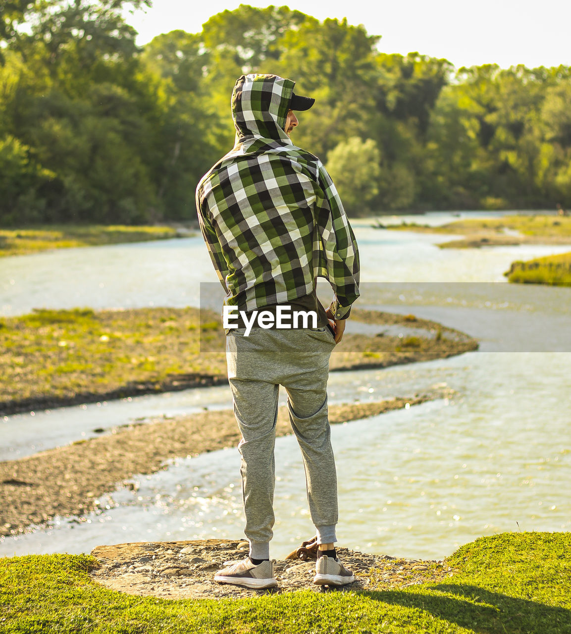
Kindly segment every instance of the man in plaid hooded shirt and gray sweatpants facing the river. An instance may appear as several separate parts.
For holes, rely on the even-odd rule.
[[[276,75],[238,79],[232,94],[236,143],[196,188],[200,228],[227,294],[225,308],[239,311],[224,326],[228,378],[242,434],[238,448],[250,542],[249,557],[214,579],[248,588],[277,585],[269,542],[279,385],[288,394],[318,534],[314,583],[354,581],[335,552],[337,477],[326,387],[331,351],[359,296],[359,256],[323,164],[290,139],[298,125],[295,111],[309,110],[314,103],[293,93],[294,86]],[[335,292],[327,311],[316,295],[319,276]],[[259,309],[259,325],[251,327]],[[298,328],[294,323],[280,326],[285,310],[311,315],[311,325],[305,320]],[[277,328],[268,327],[275,321]]]

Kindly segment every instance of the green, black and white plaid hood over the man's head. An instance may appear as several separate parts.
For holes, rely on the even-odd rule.
[[[284,126],[294,86],[278,75],[242,75],[232,93],[236,141],[255,136],[292,143]]]

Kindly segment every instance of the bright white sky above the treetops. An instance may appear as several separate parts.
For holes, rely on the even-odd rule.
[[[127,15],[145,44],[160,33],[199,33],[215,13],[238,8],[234,2],[154,0],[153,8]],[[247,2],[268,6],[268,2]],[[503,68],[571,65],[571,0],[284,0],[290,9],[319,20],[347,18],[380,35],[383,53],[418,51],[446,58],[457,68],[497,63]]]

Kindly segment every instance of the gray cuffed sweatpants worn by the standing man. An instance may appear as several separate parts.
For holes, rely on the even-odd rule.
[[[327,416],[329,358],[335,340],[328,328],[229,330],[228,378],[242,434],[242,496],[250,555],[269,557],[274,526],[274,443],[279,385],[305,467],[309,512],[319,543],[337,540],[337,475]]]

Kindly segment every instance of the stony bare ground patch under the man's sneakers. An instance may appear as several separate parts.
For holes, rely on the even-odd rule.
[[[350,590],[383,590],[403,588],[441,581],[454,572],[446,562],[397,559],[388,555],[338,548],[343,564],[356,576],[356,581],[343,586]],[[220,584],[214,574],[225,562],[244,559],[247,541],[196,540],[124,543],[98,546],[91,554],[99,567],[91,578],[112,590],[141,597],[181,598],[245,598],[267,594],[312,590],[326,592],[326,586],[315,586],[315,561],[285,559],[274,564],[278,587],[271,590],[250,590]],[[293,554],[293,553],[292,553]]]

